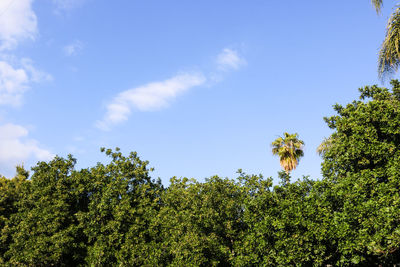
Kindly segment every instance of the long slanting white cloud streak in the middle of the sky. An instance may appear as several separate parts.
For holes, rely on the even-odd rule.
[[[109,105],[97,127],[103,130],[111,124],[128,119],[132,108],[153,111],[168,106],[169,102],[192,87],[202,85],[206,78],[201,73],[178,74],[162,82],[152,82],[119,93]]]

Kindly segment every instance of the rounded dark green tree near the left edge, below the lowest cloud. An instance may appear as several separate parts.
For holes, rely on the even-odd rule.
[[[3,229],[10,240],[4,257],[10,266],[78,266],[86,240],[76,219],[81,194],[75,190],[76,160],[39,162],[23,183],[18,211]],[[27,176],[22,175],[22,176]]]

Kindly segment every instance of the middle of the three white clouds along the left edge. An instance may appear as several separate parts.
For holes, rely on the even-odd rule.
[[[51,80],[51,75],[37,70],[30,59],[22,59],[20,68],[0,61],[0,105],[18,106],[32,82]]]

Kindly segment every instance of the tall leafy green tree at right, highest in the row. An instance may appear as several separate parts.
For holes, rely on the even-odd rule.
[[[360,88],[360,100],[325,118],[334,142],[323,154],[332,182],[340,265],[400,260],[400,82]]]

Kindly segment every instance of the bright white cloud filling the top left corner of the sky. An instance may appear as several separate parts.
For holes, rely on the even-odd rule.
[[[0,51],[15,48],[25,39],[34,39],[37,19],[33,0],[0,1]]]

